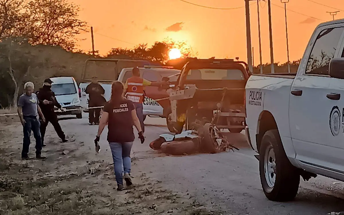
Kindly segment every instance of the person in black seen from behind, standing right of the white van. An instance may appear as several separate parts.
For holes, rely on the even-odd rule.
[[[92,82],[87,85],[85,93],[88,94],[88,107],[99,107],[103,106],[106,102],[104,98],[105,90],[98,83],[97,77],[92,77]],[[100,108],[88,109],[88,121],[89,125],[99,125]]]

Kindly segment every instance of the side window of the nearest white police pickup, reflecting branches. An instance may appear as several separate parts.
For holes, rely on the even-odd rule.
[[[306,74],[329,74],[329,64],[343,33],[342,28],[330,28],[320,32],[309,56]]]

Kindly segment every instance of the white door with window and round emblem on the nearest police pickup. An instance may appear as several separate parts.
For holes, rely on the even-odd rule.
[[[340,105],[328,98],[338,93],[331,86],[329,62],[338,56],[343,29],[338,24],[326,25],[314,32],[291,87],[290,132],[296,158],[305,164],[329,166],[343,155],[335,152],[330,141],[340,133]]]

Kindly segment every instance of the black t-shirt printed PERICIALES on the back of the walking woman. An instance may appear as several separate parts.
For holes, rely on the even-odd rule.
[[[135,110],[132,101],[124,99],[114,107],[110,101],[104,105],[104,112],[109,113],[108,142],[133,142],[135,139],[131,111]]]

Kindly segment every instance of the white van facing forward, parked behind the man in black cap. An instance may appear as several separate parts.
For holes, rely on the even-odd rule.
[[[57,115],[76,115],[78,119],[81,119],[80,93],[75,79],[73,77],[55,77],[50,80],[53,82],[51,90],[55,93],[57,102],[66,109],[65,112],[56,112]]]

